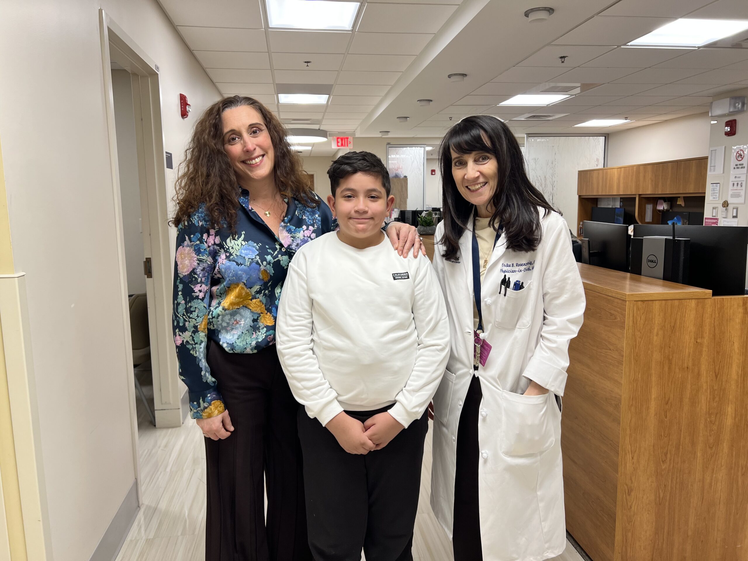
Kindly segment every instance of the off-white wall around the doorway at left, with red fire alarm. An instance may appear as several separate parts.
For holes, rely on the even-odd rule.
[[[4,174],[14,266],[27,275],[55,561],[91,557],[135,476],[99,7],[159,64],[175,164],[220,96],[156,0],[1,3]],[[193,108],[185,121],[180,92]]]

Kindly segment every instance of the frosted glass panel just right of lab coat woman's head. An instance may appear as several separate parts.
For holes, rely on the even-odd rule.
[[[603,167],[605,137],[528,136],[524,155],[530,181],[578,233],[577,172]]]

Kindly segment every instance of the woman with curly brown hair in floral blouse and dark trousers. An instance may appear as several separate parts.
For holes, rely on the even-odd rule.
[[[278,117],[242,96],[200,117],[175,200],[174,343],[206,437],[206,561],[310,560],[298,403],[275,318],[289,261],[333,230],[332,214]],[[414,227],[387,235],[403,257],[420,249]]]

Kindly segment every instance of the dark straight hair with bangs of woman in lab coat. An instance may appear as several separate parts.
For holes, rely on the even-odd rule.
[[[444,258],[459,256],[459,242],[468,227],[475,205],[457,190],[452,176],[452,153],[467,156],[473,152],[491,154],[498,163],[496,191],[491,197],[494,209],[488,224],[496,230],[504,225],[506,248],[533,251],[542,236],[538,207],[545,209],[543,217],[555,210],[543,194],[530,183],[524,171],[524,160],[517,139],[505,123],[490,115],[465,117],[453,126],[439,148],[444,236]]]

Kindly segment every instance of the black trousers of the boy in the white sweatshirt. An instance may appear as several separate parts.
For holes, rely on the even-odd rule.
[[[362,423],[387,411],[346,411]],[[349,454],[304,409],[298,435],[304,450],[309,545],[317,561],[411,561],[418,509],[423,414],[381,450]]]

